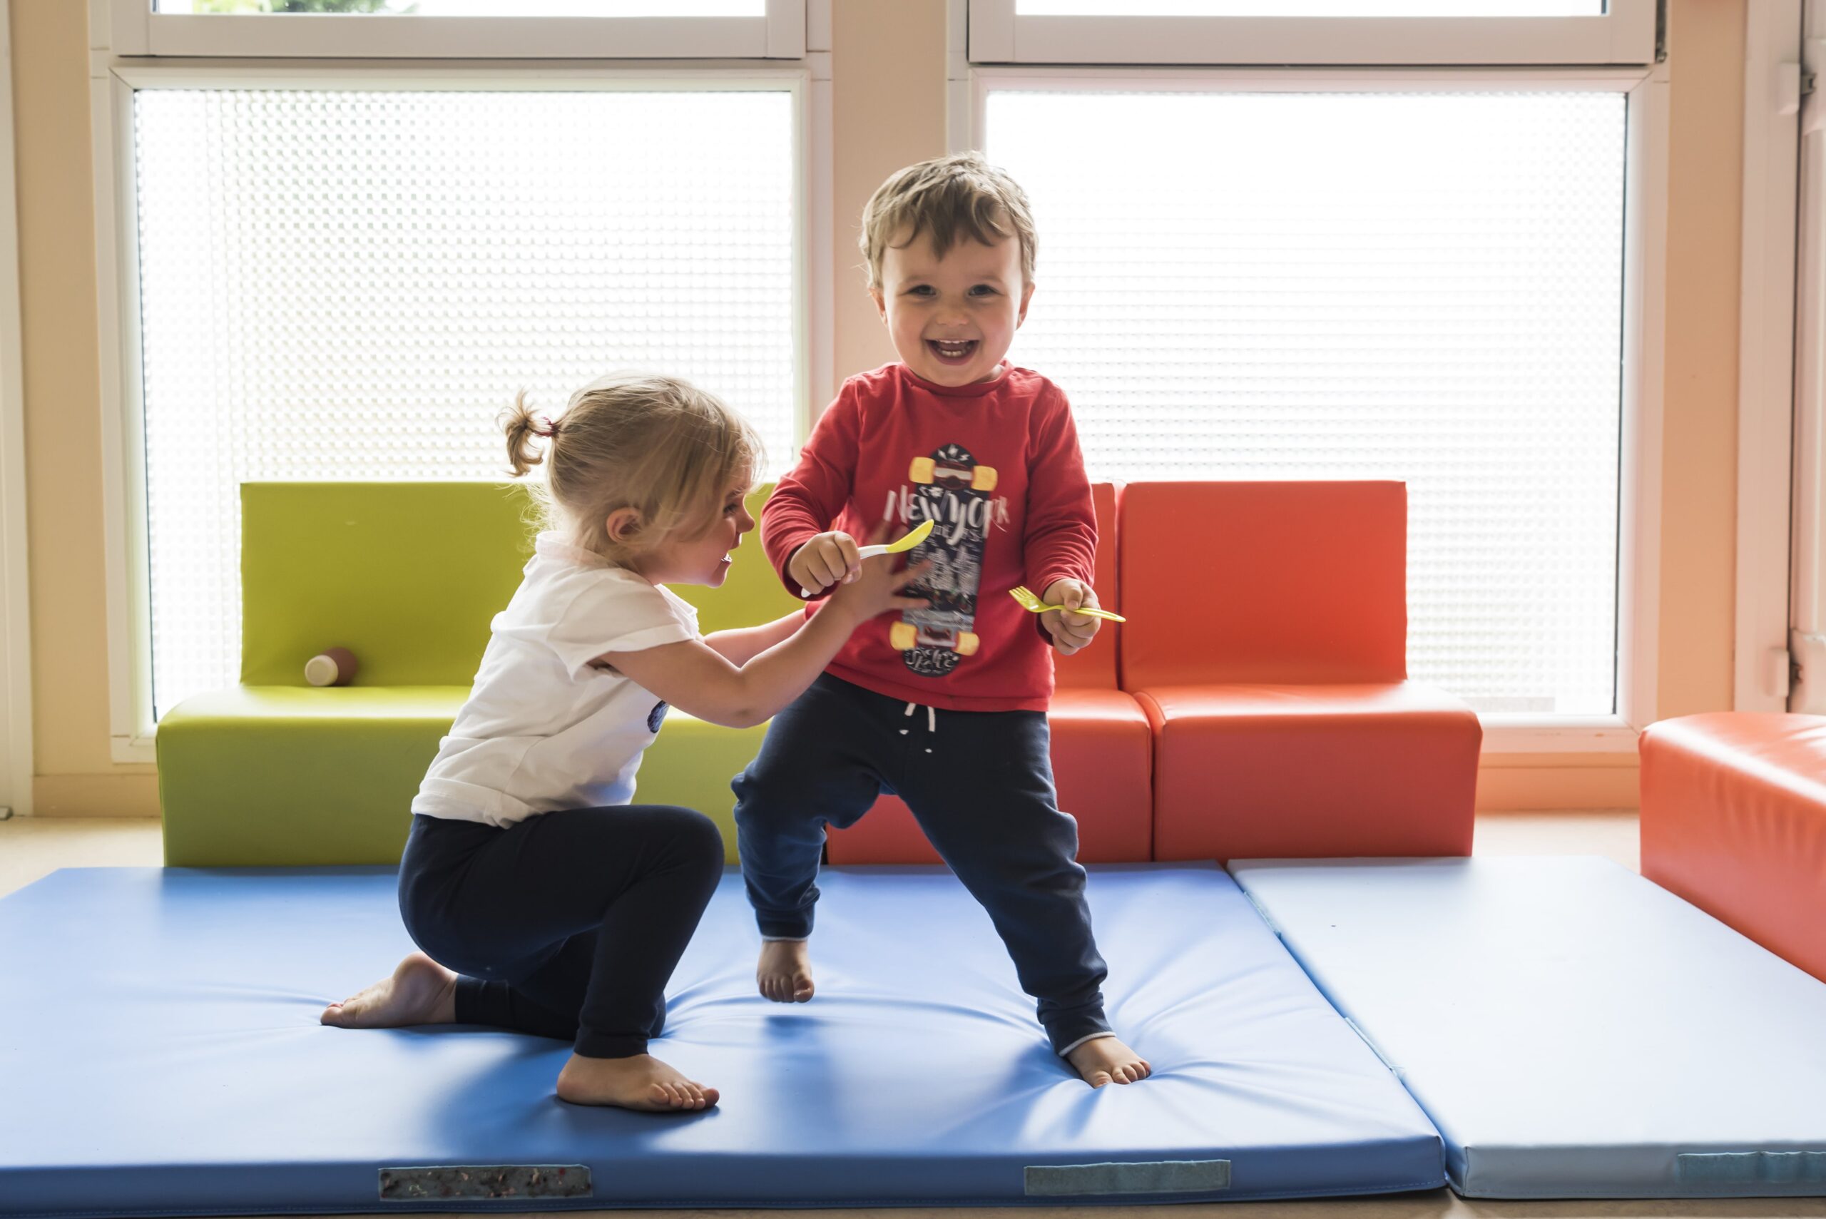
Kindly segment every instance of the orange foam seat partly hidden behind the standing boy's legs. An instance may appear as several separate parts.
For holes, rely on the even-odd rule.
[[[1077,858],[1149,860],[1154,805],[1147,714],[1119,690],[1061,690],[1046,723],[1059,807],[1077,818]],[[833,828],[827,850],[831,863],[939,863],[913,814],[895,796],[882,796],[847,830]]]

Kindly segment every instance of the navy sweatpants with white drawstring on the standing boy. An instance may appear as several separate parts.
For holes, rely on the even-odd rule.
[[[763,938],[811,934],[824,827],[855,825],[893,792],[988,911],[1054,1051],[1110,1031],[1077,821],[1059,812],[1044,712],[944,712],[825,673],[774,715],[732,787]]]

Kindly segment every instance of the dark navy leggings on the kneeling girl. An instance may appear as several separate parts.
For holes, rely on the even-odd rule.
[[[723,836],[690,808],[568,808],[500,828],[415,816],[400,914],[455,969],[456,1024],[646,1051],[665,985],[723,876]]]

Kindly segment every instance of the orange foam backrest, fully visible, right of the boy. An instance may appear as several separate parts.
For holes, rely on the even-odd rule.
[[[1408,675],[1399,482],[1134,482],[1121,495],[1121,686]]]

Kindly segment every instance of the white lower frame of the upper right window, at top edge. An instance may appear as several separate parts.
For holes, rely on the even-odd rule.
[[[1601,16],[1037,16],[968,0],[975,64],[1649,64],[1656,0]]]

